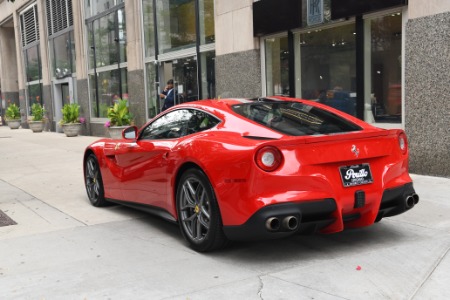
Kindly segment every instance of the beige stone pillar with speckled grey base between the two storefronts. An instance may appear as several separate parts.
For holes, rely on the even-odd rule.
[[[216,0],[217,96],[261,95],[259,39],[253,37],[253,0]]]

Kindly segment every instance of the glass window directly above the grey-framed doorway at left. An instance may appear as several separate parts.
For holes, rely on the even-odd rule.
[[[51,40],[53,75],[63,78],[75,73],[75,43],[72,31],[62,34]]]

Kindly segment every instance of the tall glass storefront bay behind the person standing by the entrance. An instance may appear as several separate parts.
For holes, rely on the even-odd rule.
[[[147,114],[174,81],[175,103],[215,97],[213,0],[143,0]]]

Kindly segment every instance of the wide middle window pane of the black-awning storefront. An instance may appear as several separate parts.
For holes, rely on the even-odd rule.
[[[300,46],[302,98],[355,115],[355,25],[303,33]]]

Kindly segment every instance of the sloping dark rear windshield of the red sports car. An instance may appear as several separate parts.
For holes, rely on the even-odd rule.
[[[249,120],[291,136],[361,130],[333,113],[299,102],[250,102],[233,105],[232,109]]]

